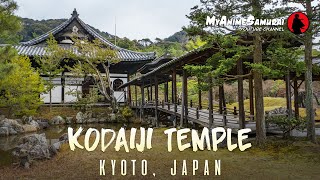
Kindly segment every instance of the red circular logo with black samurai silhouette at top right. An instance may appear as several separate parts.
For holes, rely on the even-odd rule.
[[[309,18],[303,12],[292,13],[288,17],[288,29],[294,34],[303,34],[309,28]]]

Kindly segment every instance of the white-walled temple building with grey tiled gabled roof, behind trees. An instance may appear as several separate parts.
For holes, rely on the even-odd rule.
[[[127,95],[127,88],[118,89],[124,83],[127,83],[130,75],[134,74],[138,69],[143,67],[145,64],[155,59],[156,55],[154,52],[135,52],[120,48],[105,37],[94,31],[88,24],[84,23],[77,13],[76,9],[71,14],[71,18],[60,24],[51,31],[43,34],[37,38],[34,38],[27,42],[21,42],[19,45],[14,46],[20,55],[26,55],[30,59],[34,59],[35,56],[43,56],[46,51],[46,41],[50,34],[54,36],[60,46],[64,48],[71,48],[73,46],[72,38],[76,34],[79,38],[87,38],[89,41],[99,39],[107,47],[116,51],[119,63],[110,65],[110,80],[111,87],[114,90],[114,96],[118,102],[125,102]],[[44,77],[45,78],[45,77]],[[93,83],[89,79],[74,78],[72,74],[66,70],[61,78],[54,79],[55,87],[51,90],[52,103],[72,103],[77,100],[75,96],[70,95],[71,91],[81,91],[83,94],[88,93],[90,88],[93,87]],[[42,94],[45,103],[50,102],[49,93]]]

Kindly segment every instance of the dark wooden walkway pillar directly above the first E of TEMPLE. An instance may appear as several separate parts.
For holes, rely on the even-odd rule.
[[[180,127],[183,127],[183,121],[187,117],[188,113],[188,94],[187,94],[187,72],[182,72],[182,103],[181,103],[181,117]]]

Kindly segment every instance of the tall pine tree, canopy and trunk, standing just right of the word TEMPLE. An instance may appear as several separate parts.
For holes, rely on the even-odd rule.
[[[187,15],[190,19],[190,25],[185,27],[184,30],[191,36],[200,36],[203,40],[208,41],[211,46],[219,44],[231,43],[228,48],[233,50],[233,56],[220,57],[218,65],[214,68],[217,76],[225,75],[230,67],[236,65],[237,59],[242,58],[249,47],[251,47],[253,64],[248,66],[252,67],[252,74],[254,79],[254,92],[255,92],[255,121],[256,121],[256,141],[258,145],[263,145],[266,140],[266,127],[265,127],[265,112],[263,105],[263,72],[268,69],[262,61],[263,57],[263,44],[270,43],[266,37],[272,36],[269,32],[253,31],[248,33],[246,31],[236,30],[235,26],[228,27],[208,27],[206,25],[207,17],[215,16],[221,18],[226,16],[229,18],[247,18],[249,15],[254,16],[256,19],[273,19],[285,17],[290,14],[294,8],[283,6],[285,1],[272,1],[272,0],[201,0],[201,5],[195,6],[191,9],[191,13]],[[270,8],[270,6],[272,8]],[[255,27],[255,26],[253,26]],[[278,32],[277,32],[278,33]],[[238,42],[234,42],[231,36],[238,36]],[[269,35],[271,34],[271,35]],[[281,33],[280,33],[281,34]],[[224,37],[224,43],[219,41]],[[280,37],[280,35],[278,35]],[[290,35],[282,35],[287,36]],[[246,37],[246,38],[243,38]],[[233,44],[233,45],[232,45]],[[237,47],[234,47],[237,45]],[[236,50],[238,48],[238,50]],[[239,49],[243,48],[243,53]],[[225,51],[228,51],[226,49]],[[240,54],[239,54],[240,53]],[[221,55],[218,53],[218,55]],[[214,55],[217,56],[217,55]],[[212,59],[212,58],[211,58]],[[218,59],[218,58],[216,58]],[[235,77],[236,78],[236,77]]]

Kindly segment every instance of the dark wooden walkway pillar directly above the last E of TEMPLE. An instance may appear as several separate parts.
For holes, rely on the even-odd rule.
[[[237,64],[237,74],[243,75],[243,62],[242,59]],[[244,99],[243,99],[243,77],[238,78],[238,102],[239,102],[239,128],[244,129],[245,124],[245,112],[244,112]]]

